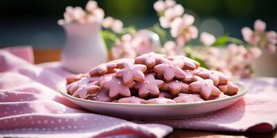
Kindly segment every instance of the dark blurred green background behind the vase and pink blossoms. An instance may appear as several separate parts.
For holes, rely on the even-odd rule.
[[[154,0],[99,0],[106,16],[121,19],[125,26],[148,28],[159,21],[152,8]],[[81,0],[1,0],[0,47],[31,45],[35,48],[57,48],[64,43],[64,31],[57,25],[66,6],[82,6]],[[195,16],[199,32],[216,37],[229,34],[242,38],[240,29],[253,28],[262,19],[267,30],[277,30],[277,2],[258,0],[183,0],[177,1],[185,12]]]

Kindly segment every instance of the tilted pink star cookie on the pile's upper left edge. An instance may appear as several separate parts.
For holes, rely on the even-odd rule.
[[[116,68],[116,63],[102,63],[89,71],[89,76],[95,77],[100,75],[105,75],[106,73],[114,72]]]

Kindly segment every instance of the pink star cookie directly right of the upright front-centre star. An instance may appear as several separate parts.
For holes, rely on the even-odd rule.
[[[163,87],[161,87],[161,90],[169,90],[172,95],[177,95],[179,92],[189,92],[188,84],[178,80],[164,83]]]

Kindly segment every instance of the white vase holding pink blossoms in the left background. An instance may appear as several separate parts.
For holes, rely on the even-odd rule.
[[[107,49],[100,34],[100,23],[64,23],[60,20],[58,24],[66,32],[61,58],[66,70],[84,73],[107,62]]]

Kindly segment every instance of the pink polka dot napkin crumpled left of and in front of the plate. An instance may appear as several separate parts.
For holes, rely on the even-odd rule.
[[[34,66],[0,50],[0,137],[164,137],[162,124],[131,121],[78,110],[58,92],[69,72]]]

